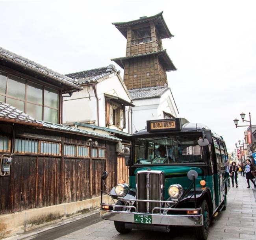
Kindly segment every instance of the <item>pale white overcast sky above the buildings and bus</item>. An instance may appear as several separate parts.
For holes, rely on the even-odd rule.
[[[163,48],[178,69],[167,73],[178,116],[206,124],[230,151],[246,129],[234,118],[241,124],[239,114],[251,112],[256,124],[254,0],[0,0],[0,9],[0,46],[62,74],[113,64],[126,39],[111,22],[163,11],[174,35]]]

